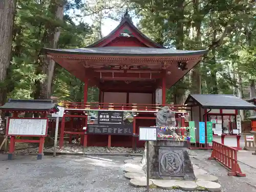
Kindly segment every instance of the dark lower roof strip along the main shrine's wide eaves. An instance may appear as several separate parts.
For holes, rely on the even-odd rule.
[[[47,53],[69,53],[83,55],[126,55],[126,56],[182,56],[202,55],[207,50],[185,51],[176,49],[159,49],[147,47],[94,47],[79,49],[50,49],[44,48]]]

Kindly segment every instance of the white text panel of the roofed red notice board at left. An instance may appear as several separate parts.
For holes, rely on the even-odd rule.
[[[10,118],[7,135],[46,136],[47,124],[47,118]]]

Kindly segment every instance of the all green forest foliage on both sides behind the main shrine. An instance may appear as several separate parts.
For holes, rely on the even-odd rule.
[[[0,84],[8,88],[8,97],[33,98],[36,82],[47,78],[40,72],[39,59],[42,48],[52,47],[53,29],[60,29],[58,48],[86,47],[101,38],[104,18],[120,20],[122,7],[127,6],[122,1],[70,0],[65,4],[63,20],[59,20],[53,11],[54,2],[17,1],[11,67],[8,79]],[[181,97],[198,90],[209,94],[237,94],[241,86],[249,86],[256,77],[254,8],[253,1],[245,0],[239,4],[234,0],[130,2],[130,13],[140,18],[139,29],[159,44],[176,49],[208,49],[196,68],[201,83],[193,81],[196,73],[188,73],[167,90],[167,102],[180,102]],[[86,15],[92,15],[91,26],[82,22]],[[238,77],[242,77],[242,85]],[[83,83],[58,65],[52,90],[52,95],[61,100],[83,101]],[[98,91],[89,88],[88,100],[97,101]],[[248,92],[244,92],[244,96],[248,96]]]

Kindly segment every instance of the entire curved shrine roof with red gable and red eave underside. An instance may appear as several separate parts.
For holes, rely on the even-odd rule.
[[[89,78],[89,86],[116,80],[144,84],[153,80],[157,84],[166,76],[166,88],[194,68],[207,52],[164,48],[141,33],[127,12],[109,35],[86,48],[44,48],[44,51],[81,81]],[[184,69],[180,69],[179,62],[185,65]]]

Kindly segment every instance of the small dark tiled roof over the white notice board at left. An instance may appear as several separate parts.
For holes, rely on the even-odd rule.
[[[52,100],[8,99],[7,103],[0,106],[0,110],[48,111],[54,106]]]

